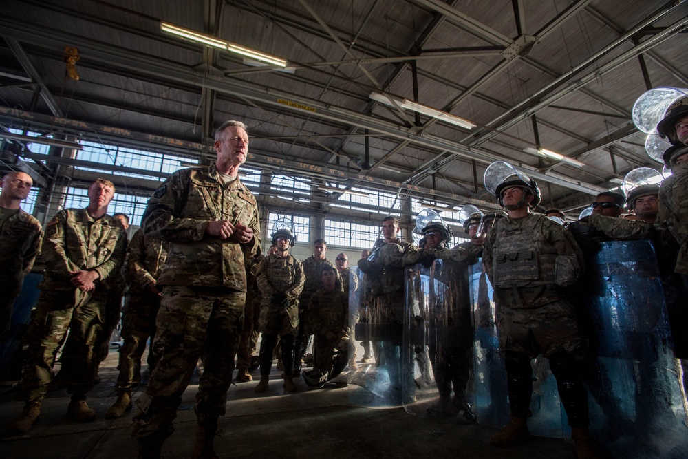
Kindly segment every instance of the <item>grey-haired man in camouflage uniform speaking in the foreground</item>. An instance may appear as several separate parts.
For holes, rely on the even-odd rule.
[[[173,173],[143,215],[144,234],[170,245],[156,283],[162,287],[153,343],[158,363],[131,425],[142,457],[160,456],[199,358],[194,456],[213,456],[232,382],[246,305],[244,257],[260,246],[260,225],[256,200],[238,178],[248,155],[244,123],[224,122],[214,147],[215,163]]]

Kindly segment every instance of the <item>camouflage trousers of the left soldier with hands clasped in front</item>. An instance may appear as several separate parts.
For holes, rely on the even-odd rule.
[[[56,354],[64,344],[60,374],[70,393],[93,388],[98,361],[94,345],[103,334],[105,295],[81,290],[41,290],[38,306],[24,341],[27,345],[18,398],[35,402],[45,398],[54,376]],[[69,332],[69,337],[67,337]]]

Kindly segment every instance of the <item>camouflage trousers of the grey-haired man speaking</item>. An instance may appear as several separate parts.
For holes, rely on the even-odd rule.
[[[234,357],[244,326],[246,292],[222,287],[165,286],[155,321],[158,363],[137,401],[132,436],[166,438],[198,359],[204,371],[196,394],[199,425],[224,415]]]

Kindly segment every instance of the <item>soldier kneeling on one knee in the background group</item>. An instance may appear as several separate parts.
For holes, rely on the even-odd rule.
[[[336,268],[325,266],[321,274],[323,288],[310,297],[308,323],[314,336],[315,361],[306,381],[325,383],[344,369],[349,352],[349,295],[337,285]],[[333,369],[334,349],[338,365]],[[310,385],[310,384],[309,384]]]

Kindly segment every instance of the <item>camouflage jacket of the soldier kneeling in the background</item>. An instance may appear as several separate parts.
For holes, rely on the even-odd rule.
[[[349,297],[336,289],[318,290],[308,303],[308,324],[314,334],[330,341],[343,338],[349,329]]]

